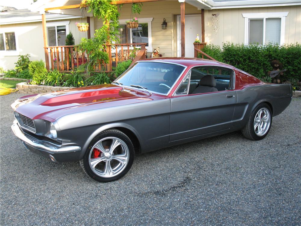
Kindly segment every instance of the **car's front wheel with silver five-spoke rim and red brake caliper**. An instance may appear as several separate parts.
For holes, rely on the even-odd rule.
[[[80,161],[88,176],[100,182],[123,177],[134,161],[134,147],[126,134],[119,130],[105,130],[90,143]]]

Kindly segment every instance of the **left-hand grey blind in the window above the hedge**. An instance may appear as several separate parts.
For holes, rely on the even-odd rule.
[[[263,19],[249,20],[249,44],[263,42]]]

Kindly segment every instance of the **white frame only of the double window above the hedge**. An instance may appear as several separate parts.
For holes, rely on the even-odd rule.
[[[280,18],[280,45],[284,44],[284,33],[285,33],[285,17],[288,12],[275,12],[275,13],[243,13],[245,18],[245,30],[244,30],[244,44],[249,45],[249,20],[250,19],[263,19],[263,37],[262,45],[265,44],[265,19],[267,18]]]

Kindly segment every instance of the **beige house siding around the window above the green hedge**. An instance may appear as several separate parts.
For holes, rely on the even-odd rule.
[[[301,42],[301,6],[205,10],[205,42],[222,46],[223,42],[244,43],[243,13],[288,12],[284,43]],[[219,31],[212,29],[212,14],[219,15]]]

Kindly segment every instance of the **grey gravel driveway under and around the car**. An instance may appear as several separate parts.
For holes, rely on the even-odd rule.
[[[301,98],[261,141],[235,132],[140,154],[102,184],[25,149],[10,128],[20,96],[0,97],[2,226],[301,224]]]

